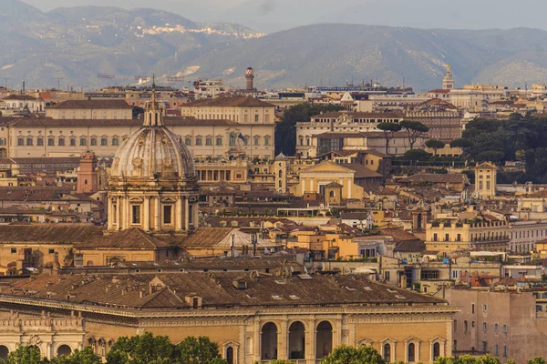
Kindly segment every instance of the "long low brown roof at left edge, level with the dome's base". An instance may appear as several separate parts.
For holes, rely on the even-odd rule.
[[[101,237],[103,230],[84,225],[0,225],[0,241],[72,244]]]

